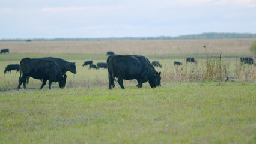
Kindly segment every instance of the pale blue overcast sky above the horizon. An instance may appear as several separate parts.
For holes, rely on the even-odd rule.
[[[256,0],[0,0],[0,38],[256,33]]]

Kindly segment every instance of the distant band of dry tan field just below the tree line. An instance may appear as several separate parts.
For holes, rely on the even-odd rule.
[[[126,40],[126,41],[10,41],[0,42],[0,49],[10,53],[87,53],[114,51],[132,55],[181,55],[206,53],[248,53],[256,39],[226,40]]]

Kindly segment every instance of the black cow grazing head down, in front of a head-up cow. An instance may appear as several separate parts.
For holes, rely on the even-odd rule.
[[[51,89],[52,82],[59,82],[59,88],[64,88],[66,85],[67,75],[62,76],[61,70],[59,70],[58,64],[54,61],[45,61],[40,59],[23,58],[20,61],[20,77],[18,89],[23,83],[24,89],[26,89],[26,78],[33,77],[34,79],[43,79],[43,83],[40,89],[46,85],[46,81],[49,80],[49,89]],[[22,75],[22,76],[21,76]]]

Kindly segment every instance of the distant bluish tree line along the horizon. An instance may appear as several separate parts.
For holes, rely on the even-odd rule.
[[[181,35],[178,37],[109,37],[109,38],[16,38],[2,39],[0,41],[105,41],[105,40],[204,40],[204,39],[232,39],[232,38],[256,38],[256,34],[250,33],[217,33]]]

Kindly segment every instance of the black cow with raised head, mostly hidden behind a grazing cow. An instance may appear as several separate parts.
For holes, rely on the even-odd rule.
[[[33,59],[40,59],[46,61],[54,61],[58,64],[59,70],[64,75],[67,71],[70,71],[73,74],[76,74],[76,62],[68,62],[61,58],[54,58],[54,57],[44,57],[44,58],[33,58]],[[29,83],[29,77],[26,80],[26,83]]]

